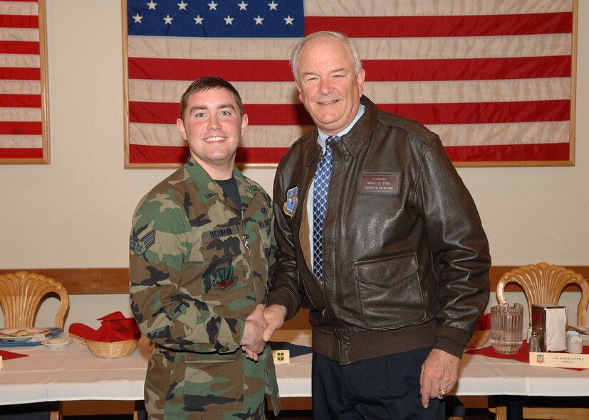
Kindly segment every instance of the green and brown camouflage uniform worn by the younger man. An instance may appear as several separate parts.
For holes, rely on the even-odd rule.
[[[137,205],[130,238],[130,303],[155,343],[145,406],[152,419],[264,419],[277,412],[269,346],[258,362],[239,343],[265,303],[276,249],[269,195],[234,168],[241,209],[191,157]]]

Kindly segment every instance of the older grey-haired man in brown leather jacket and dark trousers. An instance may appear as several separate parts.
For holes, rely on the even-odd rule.
[[[279,259],[264,339],[310,309],[316,419],[443,418],[440,399],[489,299],[474,201],[437,134],[363,96],[365,70],[348,38],[313,33],[291,64],[316,127],[276,172]],[[314,178],[328,147],[316,274]]]

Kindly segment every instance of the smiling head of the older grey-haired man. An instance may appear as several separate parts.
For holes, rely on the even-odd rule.
[[[298,97],[325,134],[338,134],[353,122],[364,91],[364,75],[363,69],[355,74],[352,53],[337,38],[321,36],[301,50]]]

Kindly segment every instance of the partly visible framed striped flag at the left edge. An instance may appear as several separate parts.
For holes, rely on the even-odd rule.
[[[0,0],[0,163],[49,163],[44,0]]]

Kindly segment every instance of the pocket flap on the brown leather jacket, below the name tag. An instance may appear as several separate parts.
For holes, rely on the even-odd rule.
[[[393,286],[417,273],[415,254],[371,259],[354,263],[356,276],[365,284]]]

